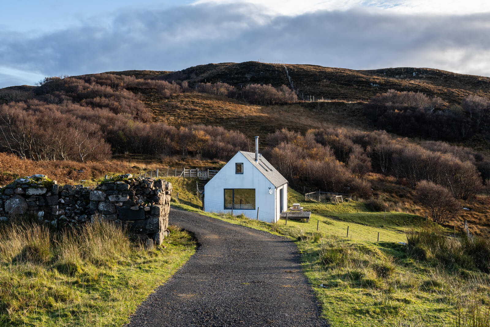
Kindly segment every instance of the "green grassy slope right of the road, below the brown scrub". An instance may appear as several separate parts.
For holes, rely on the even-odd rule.
[[[308,223],[268,224],[203,212],[183,183],[173,185],[187,200],[172,206],[294,240],[303,271],[332,326],[490,326],[490,277],[468,261],[470,254],[482,257],[489,251],[468,248],[470,254],[460,254],[457,246],[447,245],[457,239],[448,239],[443,228],[423,224],[422,217],[390,212],[383,223],[384,212],[370,212],[364,203],[306,203],[290,191],[296,196],[291,201],[317,213]],[[441,238],[427,237],[420,244],[410,238],[406,244],[407,234],[422,226],[430,228],[427,235]]]

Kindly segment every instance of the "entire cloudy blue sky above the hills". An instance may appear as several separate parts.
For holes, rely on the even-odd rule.
[[[0,88],[265,59],[490,76],[488,0],[0,0]]]

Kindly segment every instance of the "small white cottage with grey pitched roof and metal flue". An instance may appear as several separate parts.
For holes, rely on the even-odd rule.
[[[204,210],[275,223],[288,207],[288,181],[259,154],[239,151],[204,185]]]

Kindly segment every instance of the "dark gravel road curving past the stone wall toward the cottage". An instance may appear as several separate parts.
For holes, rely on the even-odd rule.
[[[287,239],[171,209],[198,248],[126,326],[329,326]]]

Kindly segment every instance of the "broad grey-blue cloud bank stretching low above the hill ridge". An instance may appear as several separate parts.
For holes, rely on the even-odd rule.
[[[351,69],[430,67],[490,76],[489,22],[490,14],[408,15],[365,9],[273,16],[255,4],[128,11],[104,24],[91,21],[42,36],[0,32],[0,74],[32,84],[44,75],[180,70],[266,58]],[[2,80],[0,85],[7,86]]]

